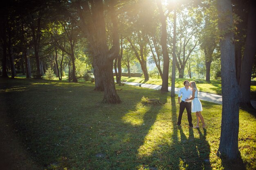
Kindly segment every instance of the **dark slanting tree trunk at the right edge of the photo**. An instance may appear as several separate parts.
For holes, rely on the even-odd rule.
[[[245,42],[245,51],[242,59],[241,76],[240,76],[240,90],[242,92],[242,106],[252,107],[250,92],[251,92],[251,78],[252,66],[256,52],[256,3],[252,2],[249,5],[247,36]]]

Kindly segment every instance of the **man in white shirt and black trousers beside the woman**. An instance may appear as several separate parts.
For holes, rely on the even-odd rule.
[[[180,104],[180,112],[178,117],[178,123],[177,125],[181,124],[182,114],[186,108],[186,112],[188,114],[188,121],[189,121],[189,127],[194,127],[192,124],[192,116],[191,116],[191,101],[185,101],[186,98],[192,97],[192,89],[189,87],[189,81],[185,80],[183,82],[184,87],[180,89],[179,95],[178,95],[178,102]],[[180,101],[180,96],[182,96]]]

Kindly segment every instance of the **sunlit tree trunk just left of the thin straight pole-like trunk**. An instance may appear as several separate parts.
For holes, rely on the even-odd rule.
[[[159,9],[160,20],[162,25],[161,46],[162,46],[162,53],[163,53],[163,60],[164,60],[161,92],[169,92],[168,78],[169,78],[170,58],[168,56],[168,49],[167,49],[166,16],[164,15],[164,11],[162,9],[162,2],[160,0],[157,0],[157,6]]]

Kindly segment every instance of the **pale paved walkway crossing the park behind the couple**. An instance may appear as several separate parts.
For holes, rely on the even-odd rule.
[[[151,85],[151,84],[144,84],[144,83],[134,83],[134,82],[125,82],[127,85],[134,85],[134,86],[139,86],[141,87],[146,87],[149,89],[155,89],[155,90],[160,90],[162,85]],[[168,90],[171,92],[171,87],[168,87]],[[175,94],[179,94],[180,88],[175,87]],[[209,101],[212,103],[217,103],[222,105],[222,96],[218,94],[211,94],[211,93],[205,93],[205,92],[198,92],[198,96],[200,100],[202,101]],[[256,101],[251,101],[252,105],[256,109]]]

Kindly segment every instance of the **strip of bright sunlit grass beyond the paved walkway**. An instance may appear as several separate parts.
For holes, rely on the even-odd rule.
[[[140,77],[121,77],[121,80],[127,80],[130,82],[136,82],[136,83],[147,83],[147,84],[155,84],[155,85],[162,85],[162,79],[161,78],[149,78],[148,81],[144,81],[144,78]],[[201,92],[207,92],[207,93],[213,93],[213,94],[219,94],[221,95],[221,81],[214,81],[212,80],[211,83],[208,83],[207,81],[203,80],[195,80],[190,78],[176,78],[175,79],[175,87],[184,87],[183,82],[185,80],[188,81],[195,81],[198,90]],[[169,79],[168,86],[171,87],[171,79]],[[253,100],[256,100],[256,81],[252,81],[251,83],[251,92],[252,96],[251,98]]]

